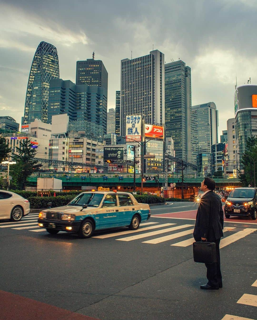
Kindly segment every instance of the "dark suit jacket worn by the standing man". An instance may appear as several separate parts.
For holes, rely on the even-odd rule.
[[[195,240],[201,241],[202,237],[214,241],[223,237],[223,214],[221,198],[214,191],[202,196],[193,233]]]

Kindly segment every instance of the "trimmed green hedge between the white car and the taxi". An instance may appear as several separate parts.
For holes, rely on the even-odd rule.
[[[56,196],[56,197],[28,197],[31,209],[47,208],[48,202],[52,203],[52,208],[68,204],[74,198],[73,195]]]

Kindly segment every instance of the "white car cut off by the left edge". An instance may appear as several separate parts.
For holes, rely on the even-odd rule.
[[[0,208],[0,220],[19,221],[30,212],[30,204],[27,199],[6,190],[0,190]]]

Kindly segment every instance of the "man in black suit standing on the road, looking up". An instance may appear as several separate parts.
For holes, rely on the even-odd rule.
[[[206,177],[201,183],[201,190],[204,194],[200,200],[193,233],[195,241],[202,240],[216,244],[217,262],[205,264],[208,283],[200,286],[201,289],[210,290],[222,288],[220,240],[223,237],[224,213],[221,198],[213,191],[215,186],[215,181],[209,177]]]

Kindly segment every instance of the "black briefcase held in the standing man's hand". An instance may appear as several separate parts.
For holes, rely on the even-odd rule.
[[[197,241],[193,243],[193,255],[195,262],[215,263],[216,244],[215,242]]]

